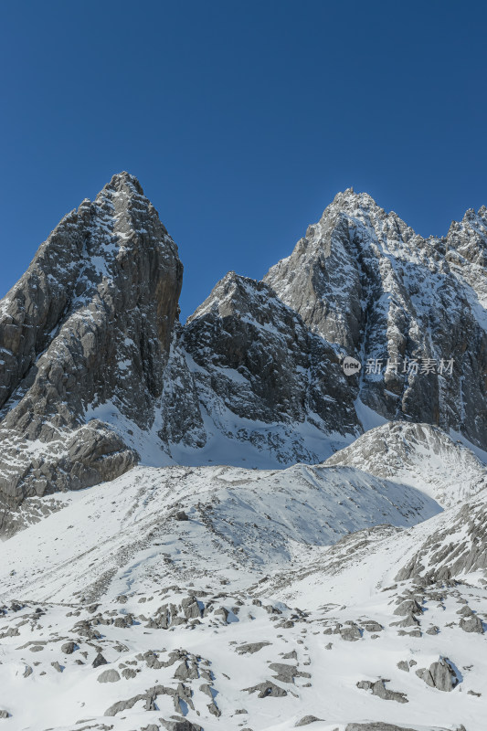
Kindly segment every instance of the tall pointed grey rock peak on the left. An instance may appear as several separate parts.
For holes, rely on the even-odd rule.
[[[115,175],[64,217],[0,305],[0,494],[76,489],[137,454],[91,412],[141,428],[163,392],[182,265],[137,180]]]

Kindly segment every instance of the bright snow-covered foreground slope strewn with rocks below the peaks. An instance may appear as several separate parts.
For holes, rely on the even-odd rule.
[[[305,465],[135,468],[56,499],[0,546],[5,728],[484,731],[485,637],[461,628],[485,619],[482,577],[396,578],[461,508]],[[450,692],[415,673],[440,658]],[[357,687],[381,678],[407,702]]]

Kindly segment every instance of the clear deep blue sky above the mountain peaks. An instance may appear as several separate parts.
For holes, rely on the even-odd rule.
[[[27,0],[0,7],[0,296],[59,218],[137,175],[183,320],[353,185],[423,235],[487,204],[487,5]]]

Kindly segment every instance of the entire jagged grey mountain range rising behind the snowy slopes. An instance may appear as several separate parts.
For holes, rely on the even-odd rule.
[[[323,461],[370,415],[485,447],[486,230],[481,209],[424,240],[348,190],[265,282],[230,272],[181,326],[175,243],[138,181],[114,175],[0,305],[3,533],[27,496],[138,462]],[[347,377],[345,351],[448,358],[453,369]]]

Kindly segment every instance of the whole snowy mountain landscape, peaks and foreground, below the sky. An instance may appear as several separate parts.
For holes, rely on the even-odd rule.
[[[0,726],[485,731],[486,251],[348,190],[183,325],[132,175],[65,217],[0,302]]]

